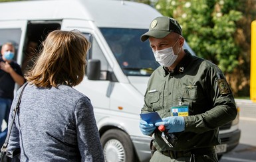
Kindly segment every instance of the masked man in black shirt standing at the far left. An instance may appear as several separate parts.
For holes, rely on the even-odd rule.
[[[0,56],[0,126],[2,126],[3,120],[8,123],[15,83],[19,86],[25,83],[21,67],[13,60],[14,54],[13,44],[10,42],[3,44]],[[6,136],[7,129],[1,127],[0,147],[5,142]]]

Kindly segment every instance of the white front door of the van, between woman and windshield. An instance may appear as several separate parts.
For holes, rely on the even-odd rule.
[[[63,20],[61,30],[79,30],[86,36],[91,43],[91,48],[87,54],[87,60],[97,59],[101,63],[101,71],[111,71],[110,65],[104,56],[102,51],[102,42],[99,41],[95,34],[95,30],[92,30],[92,26],[86,20]],[[103,75],[103,74],[102,74]],[[109,114],[110,104],[110,91],[111,83],[106,79],[92,81],[84,77],[82,83],[74,87],[84,95],[86,95],[92,105],[94,106],[94,113],[96,114],[96,121],[98,122],[101,118],[106,118]]]

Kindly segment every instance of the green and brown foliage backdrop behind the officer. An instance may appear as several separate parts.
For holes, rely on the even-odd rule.
[[[248,96],[255,4],[256,0],[158,0],[154,6],[180,22],[195,54],[220,67],[235,96]]]

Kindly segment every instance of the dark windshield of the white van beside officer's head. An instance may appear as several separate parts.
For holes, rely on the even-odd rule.
[[[160,66],[148,40],[140,41],[146,29],[100,28],[125,75],[150,76]]]

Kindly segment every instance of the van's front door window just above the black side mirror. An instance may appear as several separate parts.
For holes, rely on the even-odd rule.
[[[88,59],[100,60],[101,71],[112,71],[96,39],[91,34],[84,34],[84,35],[91,43],[91,48],[90,48],[90,51],[88,52],[87,60]]]

